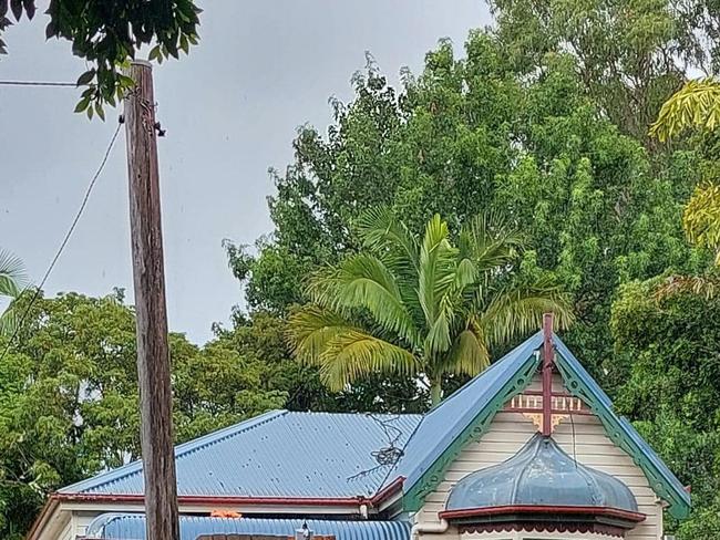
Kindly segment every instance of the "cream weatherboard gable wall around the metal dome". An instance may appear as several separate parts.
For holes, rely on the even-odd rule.
[[[541,390],[539,375],[535,376],[528,390]],[[553,380],[553,391],[563,392],[563,381],[559,376]],[[573,437],[573,425],[575,437]],[[521,413],[500,412],[490,429],[479,442],[470,443],[463,448],[445,472],[445,479],[435,491],[425,498],[424,506],[418,511],[414,519],[418,523],[438,523],[438,512],[445,509],[445,502],[452,487],[461,478],[475,470],[497,465],[513,457],[525,443],[537,432],[535,425]],[[569,456],[575,456],[577,461],[615,476],[635,495],[638,509],[647,516],[626,536],[629,540],[660,540],[662,538],[662,507],[650,488],[645,472],[632,463],[632,458],[618,448],[605,434],[603,424],[596,416],[574,415],[573,423],[564,420],[553,433],[553,438]],[[567,534],[555,534],[548,538],[565,538]],[[443,540],[455,540],[457,532],[453,528],[446,534],[423,534],[426,540],[433,537]],[[472,534],[462,534],[472,538]],[[475,538],[491,538],[474,534]],[[533,538],[537,537],[531,534]],[[569,538],[569,536],[567,536]],[[512,538],[512,534],[493,536],[492,538]],[[543,537],[544,538],[544,537]],[[577,537],[574,537],[577,538]],[[596,537],[584,537],[596,538]]]

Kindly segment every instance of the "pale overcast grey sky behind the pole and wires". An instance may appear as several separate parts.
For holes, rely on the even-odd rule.
[[[42,3],[42,2],[41,2]],[[202,42],[155,68],[169,326],[194,342],[241,303],[224,238],[240,243],[271,230],[268,167],[291,158],[297,126],[325,129],[328,97],[369,50],[392,81],[418,72],[440,38],[460,49],[490,22],[482,0],[212,0],[202,2]],[[45,42],[41,12],[6,33],[0,79],[74,81],[83,62],[66,42]],[[74,89],[0,86],[0,248],[38,282],[115,128],[73,114]],[[45,291],[91,295],[127,290],[132,301],[125,141],[122,136]]]

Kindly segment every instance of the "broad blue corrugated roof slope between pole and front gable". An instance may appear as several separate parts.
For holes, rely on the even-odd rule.
[[[354,497],[374,495],[388,474],[373,451],[402,447],[420,415],[274,411],[175,449],[178,495]],[[368,472],[366,472],[368,471]],[[356,476],[359,475],[359,476]],[[353,476],[356,476],[353,478]],[[143,492],[140,461],[63,488],[64,494]]]

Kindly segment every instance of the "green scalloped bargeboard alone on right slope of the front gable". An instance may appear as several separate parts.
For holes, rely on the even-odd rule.
[[[563,359],[563,355],[557,353],[557,357]],[[620,424],[617,415],[608,408],[605,404],[598,399],[598,397],[590,391],[587,384],[583,378],[575,373],[575,371],[566,362],[555,362],[563,380],[565,381],[565,386],[576,397],[579,397],[585,402],[590,411],[599,418],[603,427],[605,428],[606,435],[615,443],[619,448],[621,448],[626,454],[628,454],[635,465],[640,467],[642,472],[648,479],[650,487],[655,494],[661,499],[666,500],[669,506],[670,515],[677,519],[685,519],[690,513],[690,505],[682,496],[682,494],[677,492],[675,488],[658,470],[658,468],[647,458],[647,456],[641,451],[637,444],[630,438],[628,433],[625,430]]]

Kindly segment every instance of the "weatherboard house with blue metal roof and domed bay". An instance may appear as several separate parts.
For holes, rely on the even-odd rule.
[[[424,415],[272,411],[175,456],[183,540],[658,540],[690,510],[548,330]],[[29,539],[143,539],[142,492],[141,463],[68,486]]]

